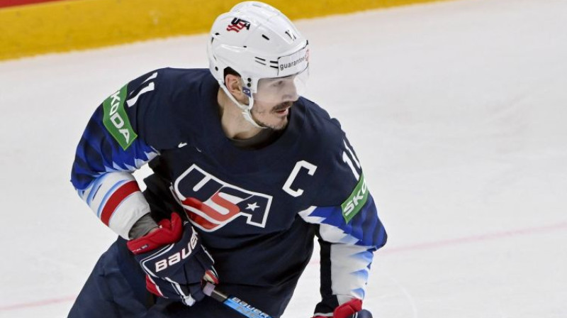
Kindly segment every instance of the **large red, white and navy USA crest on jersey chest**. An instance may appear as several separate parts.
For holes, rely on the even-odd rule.
[[[272,200],[224,182],[195,164],[177,178],[174,192],[191,223],[203,231],[216,231],[239,217],[264,228]]]

